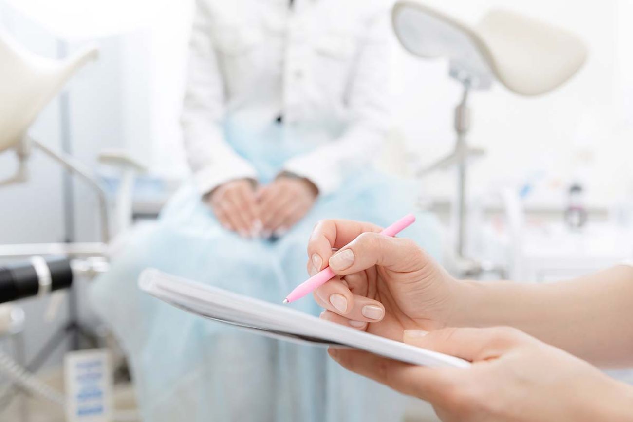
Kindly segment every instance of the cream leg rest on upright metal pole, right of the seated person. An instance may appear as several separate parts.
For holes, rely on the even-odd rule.
[[[398,40],[424,59],[447,58],[449,77],[461,84],[454,109],[454,151],[420,172],[458,169],[457,233],[454,242],[461,273],[479,273],[480,263],[465,257],[467,244],[467,161],[484,150],[467,142],[472,90],[487,90],[493,82],[521,96],[546,94],[569,80],[587,57],[582,40],[561,28],[518,13],[493,9],[477,25],[467,25],[418,1],[399,0],[392,10]]]

